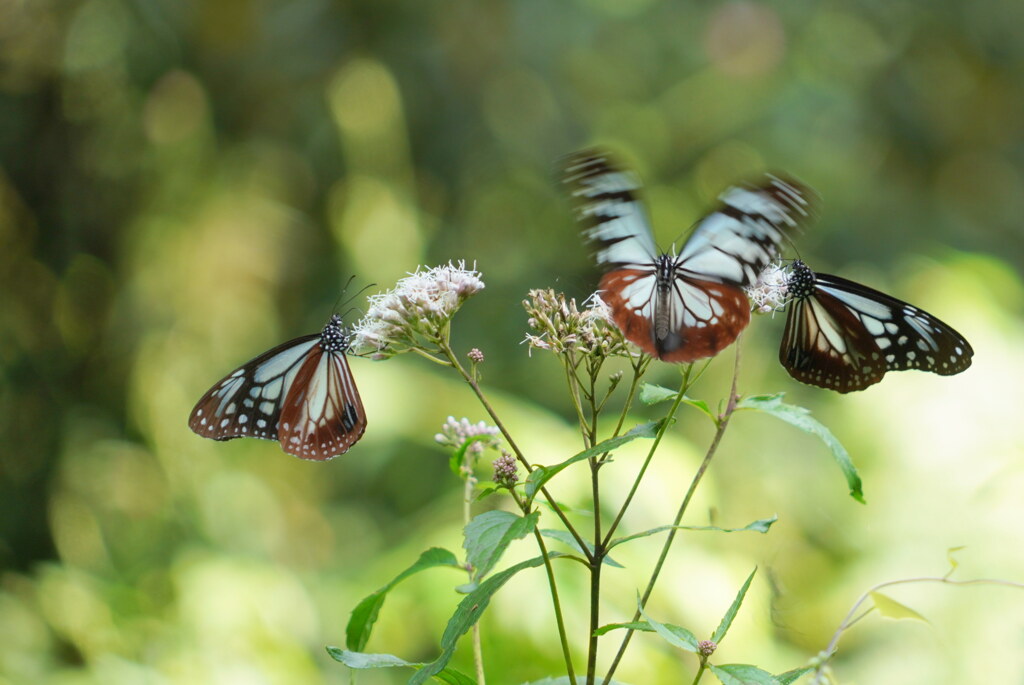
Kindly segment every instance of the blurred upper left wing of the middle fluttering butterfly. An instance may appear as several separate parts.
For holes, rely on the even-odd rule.
[[[657,247],[636,175],[598,149],[567,157],[562,168],[583,234],[597,246],[598,266],[651,269]]]

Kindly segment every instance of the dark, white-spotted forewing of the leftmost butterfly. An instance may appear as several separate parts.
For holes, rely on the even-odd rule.
[[[196,403],[188,427],[214,440],[276,440],[285,397],[303,361],[318,349],[319,337],[303,336],[278,345],[225,376]]]

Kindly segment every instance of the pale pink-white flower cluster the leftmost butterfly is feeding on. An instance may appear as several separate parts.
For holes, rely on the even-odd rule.
[[[462,303],[481,290],[480,272],[463,261],[417,268],[393,290],[370,296],[367,315],[353,329],[352,346],[378,358],[403,351],[401,347],[416,345],[418,335],[436,337]]]

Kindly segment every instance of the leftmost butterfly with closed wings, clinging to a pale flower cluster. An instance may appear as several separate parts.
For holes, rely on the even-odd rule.
[[[349,344],[334,314],[319,333],[278,345],[224,377],[196,403],[188,427],[214,440],[279,440],[302,459],[344,454],[367,428],[345,359]]]

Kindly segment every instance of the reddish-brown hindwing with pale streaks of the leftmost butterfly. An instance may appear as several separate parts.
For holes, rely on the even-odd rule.
[[[282,448],[323,461],[344,454],[367,428],[367,414],[344,350],[309,354],[281,412]]]

